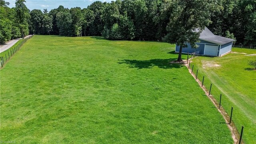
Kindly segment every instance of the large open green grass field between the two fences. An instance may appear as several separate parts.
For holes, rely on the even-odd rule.
[[[174,45],[34,36],[0,70],[2,141],[232,144]],[[186,56],[184,56],[186,58]]]

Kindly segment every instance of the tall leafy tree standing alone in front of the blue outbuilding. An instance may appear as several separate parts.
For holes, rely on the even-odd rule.
[[[190,43],[197,48],[199,36],[205,26],[210,23],[210,14],[214,9],[214,1],[210,0],[173,0],[167,1],[166,8],[172,12],[167,26],[165,40],[180,46],[177,62],[182,62],[182,48]]]

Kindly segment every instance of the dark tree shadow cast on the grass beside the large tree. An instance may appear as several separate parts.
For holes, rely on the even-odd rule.
[[[170,59],[152,59],[152,60],[121,60],[118,64],[129,64],[130,68],[153,68],[154,66],[158,66],[158,68],[182,68],[182,64],[171,64],[171,61],[176,60],[176,58]]]

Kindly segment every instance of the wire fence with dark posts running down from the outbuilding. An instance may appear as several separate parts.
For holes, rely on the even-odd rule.
[[[187,64],[188,64],[188,69],[191,70],[191,74],[194,75],[194,77],[196,78],[196,80],[199,81],[199,84],[200,84],[200,87],[204,88],[207,92],[207,96],[211,96],[215,99],[217,98],[218,96],[220,96],[220,99],[219,101],[217,101],[215,99],[214,101],[214,104],[216,104],[216,106],[218,106],[217,108],[218,109],[222,109],[225,110],[224,111],[224,115],[228,115],[229,116],[229,123],[227,124],[230,124],[230,125],[233,125],[235,126],[235,123],[234,121],[232,120],[232,114],[233,114],[233,106],[232,104],[229,104],[228,103],[228,98],[226,98],[224,95],[218,93],[218,87],[217,86],[214,86],[212,83],[211,83],[211,80],[208,79],[206,76],[204,76],[203,73],[200,74],[198,68],[196,68],[196,65],[194,64],[191,64],[191,61],[190,59],[187,59]],[[213,94],[214,93],[214,94]],[[224,100],[224,101],[223,101]],[[222,104],[224,104],[225,106],[225,109],[224,107],[222,106]],[[231,112],[227,112],[226,110],[228,109],[227,107],[231,106]],[[228,117],[227,117],[228,118]],[[239,142],[238,144],[242,144],[242,135],[243,135],[243,130],[244,130],[244,126],[242,126],[241,128],[241,132],[239,134],[240,135],[240,138],[239,138]]]

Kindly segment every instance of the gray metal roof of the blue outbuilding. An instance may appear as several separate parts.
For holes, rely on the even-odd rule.
[[[196,30],[198,31],[198,30]],[[212,42],[214,44],[226,44],[228,42],[233,42],[234,40],[231,38],[225,38],[223,36],[216,36],[214,35],[208,28],[205,27],[205,29],[201,32],[200,40],[205,40],[207,42]]]

